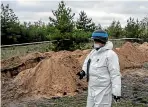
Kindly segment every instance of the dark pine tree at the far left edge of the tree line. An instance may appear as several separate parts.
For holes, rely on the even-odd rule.
[[[17,43],[19,38],[19,20],[12,9],[7,4],[1,4],[1,39],[2,44]]]

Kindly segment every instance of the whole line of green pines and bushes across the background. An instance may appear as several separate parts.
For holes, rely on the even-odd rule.
[[[52,10],[52,13],[54,17],[49,17],[48,24],[42,20],[22,24],[9,4],[1,4],[1,44],[59,40],[61,42],[55,43],[56,47],[60,47],[57,50],[68,49],[74,44],[88,42],[91,33],[101,28],[101,25],[97,26],[85,11],[81,11],[77,21],[74,21],[75,13],[66,6],[64,1],[61,1],[58,9]],[[130,17],[124,28],[121,27],[119,21],[113,21],[104,30],[109,33],[110,38],[146,39],[148,37],[148,17],[140,21]]]

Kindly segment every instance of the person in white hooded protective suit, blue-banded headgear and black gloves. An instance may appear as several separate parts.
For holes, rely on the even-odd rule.
[[[77,73],[82,79],[87,76],[87,107],[111,107],[112,98],[121,97],[121,74],[117,54],[112,50],[108,34],[103,30],[93,32],[94,48],[86,57],[82,71]],[[112,97],[113,96],[113,97]]]

